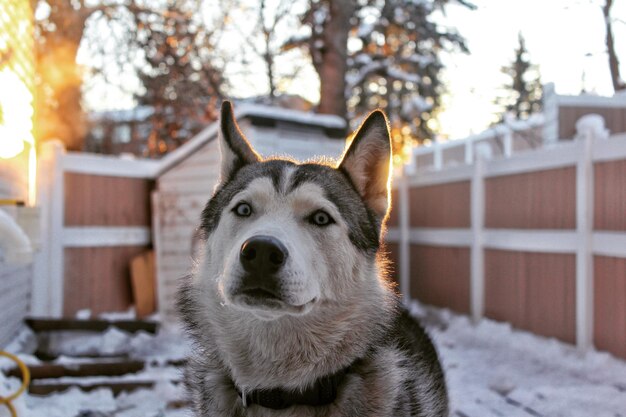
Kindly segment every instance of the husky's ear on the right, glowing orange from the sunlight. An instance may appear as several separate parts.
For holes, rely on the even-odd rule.
[[[386,215],[389,206],[390,166],[387,117],[382,110],[374,110],[355,133],[338,168],[350,177],[363,200],[380,217]]]

